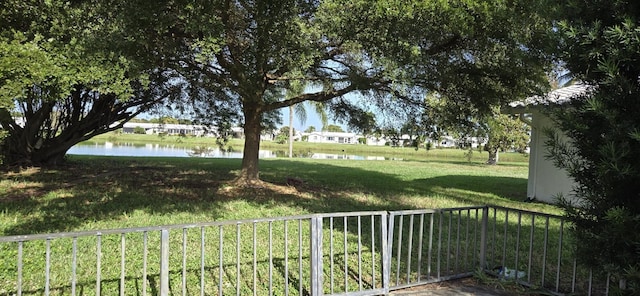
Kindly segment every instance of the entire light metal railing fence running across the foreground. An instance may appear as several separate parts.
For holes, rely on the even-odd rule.
[[[0,295],[380,295],[477,272],[607,294],[565,230],[553,215],[463,207],[0,237]]]

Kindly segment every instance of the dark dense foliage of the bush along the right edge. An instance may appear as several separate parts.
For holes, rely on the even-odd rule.
[[[591,91],[555,112],[570,141],[552,135],[550,157],[577,185],[562,205],[579,239],[578,258],[640,291],[640,4],[569,1],[559,29],[563,59]]]

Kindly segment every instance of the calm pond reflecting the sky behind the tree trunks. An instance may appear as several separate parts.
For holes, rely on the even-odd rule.
[[[95,143],[77,144],[67,154],[103,155],[103,156],[140,156],[140,157],[206,157],[206,158],[242,158],[242,151],[224,151],[218,147],[180,147],[166,144],[131,144],[131,143]],[[259,158],[288,157],[286,151],[260,150]],[[385,160],[382,156],[363,156],[331,153],[295,153],[296,158],[313,159],[352,159],[352,160]]]

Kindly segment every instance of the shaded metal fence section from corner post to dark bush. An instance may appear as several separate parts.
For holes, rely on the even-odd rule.
[[[555,294],[607,295],[609,277],[577,262],[576,242],[562,217],[486,208],[485,269]]]

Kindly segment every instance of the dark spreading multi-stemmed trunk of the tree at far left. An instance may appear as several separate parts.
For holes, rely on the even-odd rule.
[[[113,93],[99,94],[77,86],[64,100],[36,97],[22,103],[23,117],[27,118],[23,126],[7,109],[0,108],[0,125],[8,133],[0,147],[3,164],[61,164],[73,145],[120,128],[120,124],[158,102],[148,98],[131,100],[118,102]],[[131,112],[132,107],[138,111]]]

